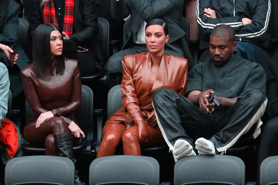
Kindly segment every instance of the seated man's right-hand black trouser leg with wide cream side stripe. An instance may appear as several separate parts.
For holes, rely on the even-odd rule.
[[[227,124],[222,125],[223,128],[209,139],[217,151],[234,145],[240,136],[257,124],[264,114],[266,103],[266,95],[259,89],[247,89],[242,92],[236,103],[226,111]]]

